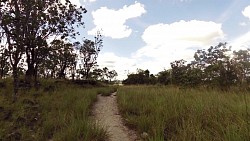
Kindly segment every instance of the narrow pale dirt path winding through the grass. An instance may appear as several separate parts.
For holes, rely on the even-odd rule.
[[[116,93],[111,96],[98,95],[98,101],[93,108],[93,116],[100,126],[109,132],[111,141],[136,141],[134,131],[129,130],[122,123],[118,111]]]

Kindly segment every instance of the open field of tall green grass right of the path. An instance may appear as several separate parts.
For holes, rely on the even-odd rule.
[[[250,139],[250,93],[124,86],[118,104],[127,125],[147,133],[145,140]]]

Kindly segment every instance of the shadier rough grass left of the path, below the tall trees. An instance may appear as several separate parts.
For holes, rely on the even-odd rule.
[[[39,90],[21,89],[11,101],[10,83],[0,89],[0,141],[103,141],[107,132],[89,119],[97,93],[114,88],[83,88],[44,81]]]

